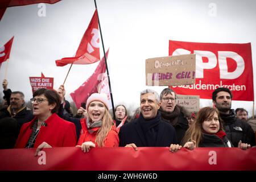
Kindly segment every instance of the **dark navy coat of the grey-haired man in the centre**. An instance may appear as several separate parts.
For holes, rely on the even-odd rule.
[[[146,120],[140,114],[138,119],[123,125],[119,131],[119,146],[134,143],[137,147],[170,147],[177,143],[176,132],[172,125],[162,121],[160,113]]]

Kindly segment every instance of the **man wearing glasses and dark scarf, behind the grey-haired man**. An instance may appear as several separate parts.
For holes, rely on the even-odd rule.
[[[161,117],[163,121],[174,126],[177,135],[177,143],[181,143],[185,131],[188,129],[188,121],[185,118],[188,111],[179,105],[176,105],[176,93],[170,88],[163,89],[160,94]]]

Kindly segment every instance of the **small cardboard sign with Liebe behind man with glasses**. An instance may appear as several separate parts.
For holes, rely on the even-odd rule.
[[[199,111],[200,96],[176,95],[176,104],[183,106],[188,111]]]

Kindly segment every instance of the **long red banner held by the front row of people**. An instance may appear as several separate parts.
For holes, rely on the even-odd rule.
[[[78,147],[0,150],[0,170],[175,171],[256,170],[256,148],[196,148],[172,153],[168,147]]]

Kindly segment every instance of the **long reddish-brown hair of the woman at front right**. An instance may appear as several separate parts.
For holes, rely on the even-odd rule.
[[[197,113],[195,123],[193,123],[193,125],[191,127],[189,127],[188,130],[186,131],[186,133],[181,141],[182,146],[184,146],[184,144],[186,142],[191,142],[192,140],[195,140],[196,147],[199,147],[199,144],[203,138],[202,137],[202,132],[203,132],[202,124],[207,118],[212,118],[214,113],[218,114],[218,121],[220,122],[220,131],[224,131],[224,127],[223,127],[220,113],[218,112],[218,110],[213,107],[203,107]]]

